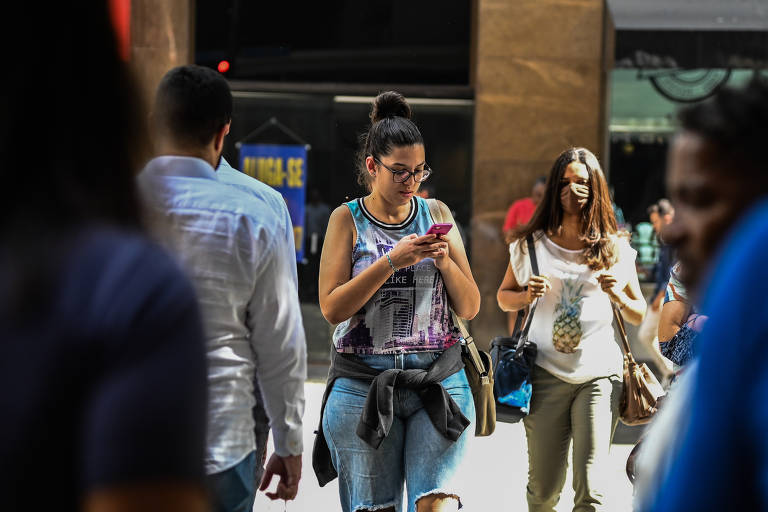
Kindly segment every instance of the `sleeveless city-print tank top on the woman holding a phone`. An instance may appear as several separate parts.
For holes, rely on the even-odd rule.
[[[399,224],[377,220],[362,198],[345,203],[355,221],[352,250],[354,278],[403,237],[423,235],[433,224],[427,202],[411,199],[411,211]],[[339,352],[397,354],[445,350],[461,340],[453,325],[448,295],[432,258],[398,269],[350,319],[336,326],[333,342]]]

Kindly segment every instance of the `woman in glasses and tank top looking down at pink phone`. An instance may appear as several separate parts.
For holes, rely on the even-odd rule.
[[[435,220],[416,192],[432,170],[410,106],[384,92],[370,117],[369,194],[332,213],[320,259],[320,307],[338,325],[315,471],[321,485],[338,474],[344,511],[400,510],[404,484],[409,511],[458,507],[475,410],[451,309],[471,319],[480,293],[456,230],[425,234]]]

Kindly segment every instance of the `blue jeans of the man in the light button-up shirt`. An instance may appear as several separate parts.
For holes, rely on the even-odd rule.
[[[259,460],[261,464],[261,460]],[[254,475],[256,452],[238,462],[235,466],[208,475],[211,490],[211,510],[214,512],[251,512],[256,497]]]

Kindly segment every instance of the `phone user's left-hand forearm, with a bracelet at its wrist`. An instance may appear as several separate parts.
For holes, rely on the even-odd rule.
[[[346,283],[334,288],[320,303],[323,316],[332,324],[348,320],[373,297],[392,276],[394,270],[386,256]]]

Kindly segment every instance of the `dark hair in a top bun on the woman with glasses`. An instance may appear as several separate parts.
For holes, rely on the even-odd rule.
[[[424,144],[421,132],[411,121],[411,107],[399,92],[387,91],[376,96],[369,117],[371,126],[360,137],[357,174],[357,182],[367,190],[370,190],[371,182],[365,166],[366,158],[380,159],[395,147]]]

